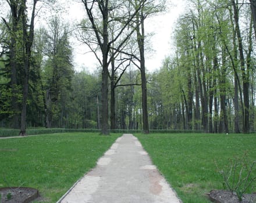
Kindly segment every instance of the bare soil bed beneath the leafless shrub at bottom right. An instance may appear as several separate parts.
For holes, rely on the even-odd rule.
[[[227,190],[212,190],[209,193],[209,199],[215,203],[254,203],[256,194],[244,194],[242,201],[239,202],[236,193]]]

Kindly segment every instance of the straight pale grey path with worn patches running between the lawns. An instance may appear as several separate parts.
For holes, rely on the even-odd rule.
[[[180,203],[137,137],[124,134],[58,203]]]

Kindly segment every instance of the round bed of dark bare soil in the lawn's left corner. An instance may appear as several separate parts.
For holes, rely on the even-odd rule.
[[[38,198],[38,190],[30,187],[0,188],[1,203],[29,203]]]

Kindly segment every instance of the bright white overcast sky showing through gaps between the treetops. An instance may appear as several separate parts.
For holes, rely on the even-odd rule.
[[[145,59],[145,65],[148,71],[158,70],[162,65],[163,59],[172,53],[171,38],[173,29],[175,28],[175,22],[179,14],[183,12],[183,8],[186,8],[184,6],[184,0],[172,0],[172,3],[174,5],[169,8],[168,13],[145,20],[145,32],[154,32],[150,45],[154,51],[147,53]],[[69,9],[68,19],[78,22],[83,16],[83,4],[73,3]],[[86,45],[81,45],[76,39],[73,39],[72,44],[74,46],[75,69],[77,71],[85,69],[90,72],[96,70],[97,66],[99,66],[98,61],[93,53],[88,53]]]

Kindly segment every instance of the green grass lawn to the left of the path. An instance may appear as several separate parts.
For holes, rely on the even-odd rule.
[[[0,187],[34,187],[56,202],[121,134],[58,133],[0,139]]]

